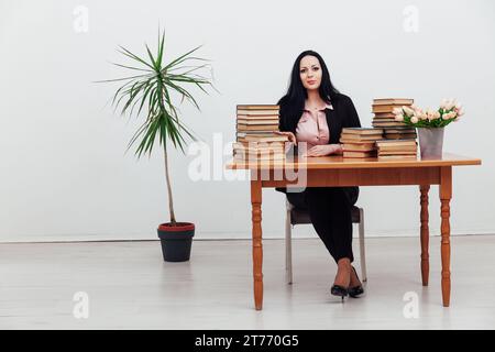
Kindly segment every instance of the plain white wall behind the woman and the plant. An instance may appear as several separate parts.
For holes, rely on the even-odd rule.
[[[88,32],[77,32],[82,6]],[[418,32],[407,32],[407,6]],[[202,112],[184,121],[205,141],[234,139],[237,103],[275,103],[294,59],[319,52],[336,86],[371,125],[376,97],[413,97],[433,107],[465,105],[444,148],[483,160],[453,174],[453,234],[494,233],[495,3],[493,1],[2,1],[0,3],[0,241],[155,239],[168,221],[162,154],[124,155],[136,121],[107,105],[121,77],[117,46],[144,53],[158,23],[166,57],[205,44],[221,95],[196,94]],[[195,91],[197,92],[197,91]],[[191,182],[193,156],[173,153],[178,221],[196,239],[249,238],[249,183]],[[228,157],[226,157],[226,161]],[[221,168],[221,165],[220,165]],[[220,170],[220,169],[219,169]],[[221,170],[220,170],[221,173]],[[431,233],[439,233],[438,187],[430,191]],[[264,237],[283,235],[284,196],[263,191]],[[362,187],[369,235],[416,235],[416,187]],[[296,235],[316,235],[299,227]]]

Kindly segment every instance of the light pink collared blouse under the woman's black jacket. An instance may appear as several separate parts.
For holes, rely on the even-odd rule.
[[[302,116],[297,123],[297,143],[306,142],[307,150],[315,145],[328,144],[330,140],[330,131],[327,124],[324,109],[333,110],[333,107],[330,103],[326,103],[324,107],[311,111],[308,106],[305,106]]]

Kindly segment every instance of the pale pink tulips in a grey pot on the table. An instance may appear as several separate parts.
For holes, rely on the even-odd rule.
[[[464,114],[455,99],[443,99],[437,110],[410,106],[394,109],[395,120],[418,130],[421,158],[441,158],[443,128]]]

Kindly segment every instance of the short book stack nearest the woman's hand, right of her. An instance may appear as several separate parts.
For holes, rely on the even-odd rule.
[[[383,130],[374,128],[342,129],[343,157],[374,157],[376,156],[376,141],[383,139]]]

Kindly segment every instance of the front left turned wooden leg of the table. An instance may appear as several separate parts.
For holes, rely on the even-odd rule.
[[[251,180],[251,206],[253,223],[253,278],[254,278],[254,305],[256,310],[263,307],[263,246],[262,246],[262,182]]]

